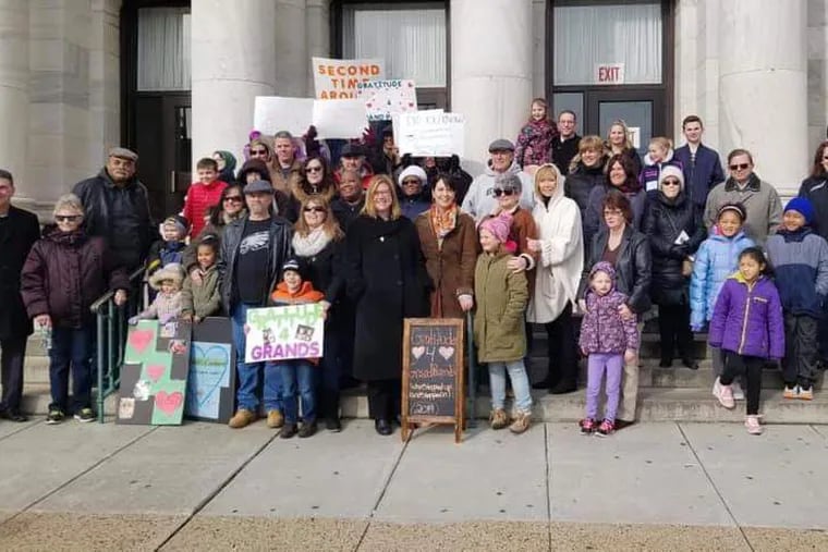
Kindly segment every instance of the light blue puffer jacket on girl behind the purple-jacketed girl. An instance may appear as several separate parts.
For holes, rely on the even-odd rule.
[[[702,242],[690,279],[690,327],[698,331],[713,318],[713,307],[724,280],[739,266],[739,254],[756,243],[739,231],[733,237],[710,234]]]

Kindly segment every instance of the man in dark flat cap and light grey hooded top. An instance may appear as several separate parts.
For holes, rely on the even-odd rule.
[[[506,138],[498,138],[489,144],[489,156],[486,171],[474,179],[461,208],[479,223],[498,208],[495,180],[501,174],[514,174],[522,184],[520,205],[531,211],[535,203],[535,184],[514,161],[514,145]]]

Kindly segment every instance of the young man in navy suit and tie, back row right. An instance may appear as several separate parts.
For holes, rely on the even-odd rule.
[[[687,143],[675,149],[674,159],[684,171],[685,189],[693,204],[704,209],[707,194],[720,182],[724,182],[719,154],[702,144],[704,125],[698,115],[687,115],[681,123]]]

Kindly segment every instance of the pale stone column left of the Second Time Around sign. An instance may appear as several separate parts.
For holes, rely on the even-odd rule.
[[[198,0],[191,17],[193,161],[217,149],[241,159],[255,97],[276,93],[276,2]]]

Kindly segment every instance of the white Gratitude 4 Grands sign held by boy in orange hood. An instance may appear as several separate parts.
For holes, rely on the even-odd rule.
[[[321,358],[325,318],[318,303],[247,310],[246,363]]]

